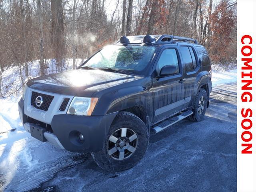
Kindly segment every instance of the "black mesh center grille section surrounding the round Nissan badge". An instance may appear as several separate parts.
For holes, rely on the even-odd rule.
[[[41,105],[39,105],[39,103],[37,102],[36,103],[36,99],[40,97],[40,100],[42,98],[42,103]],[[54,96],[51,96],[51,95],[46,95],[46,94],[42,94],[42,93],[38,93],[38,92],[32,92],[32,96],[31,96],[31,105],[37,109],[40,109],[40,110],[44,110],[44,111],[47,111],[52,100],[53,100]],[[38,104],[38,105],[37,105]]]

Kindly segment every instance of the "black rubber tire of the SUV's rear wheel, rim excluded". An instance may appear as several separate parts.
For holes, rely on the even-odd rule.
[[[200,106],[199,106],[199,100],[204,97],[204,108],[203,110],[200,110]],[[193,104],[193,108],[192,108],[192,112],[193,114],[189,116],[189,119],[191,121],[201,121],[202,118],[204,117],[204,114],[206,112],[206,108],[207,108],[207,102],[208,102],[208,96],[207,96],[207,93],[206,93],[206,90],[205,89],[200,89],[198,91],[198,93],[196,94],[196,98],[194,100],[194,104]],[[200,110],[200,111],[198,111]]]

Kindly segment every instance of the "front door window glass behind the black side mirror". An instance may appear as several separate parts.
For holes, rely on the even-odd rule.
[[[158,62],[157,62],[157,70],[160,72],[162,67],[166,65],[175,66],[177,69],[177,74],[179,73],[179,62],[178,57],[175,49],[165,49]]]

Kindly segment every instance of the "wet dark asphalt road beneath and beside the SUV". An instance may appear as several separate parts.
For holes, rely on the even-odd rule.
[[[236,83],[213,88],[204,120],[150,136],[134,168],[111,174],[90,155],[32,191],[236,191]]]

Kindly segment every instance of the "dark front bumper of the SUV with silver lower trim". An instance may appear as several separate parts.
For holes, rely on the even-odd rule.
[[[26,131],[30,132],[28,116],[24,114],[24,100],[18,102],[20,119]],[[69,114],[54,115],[51,121],[52,132],[44,132],[44,137],[54,146],[70,152],[95,152],[103,148],[106,135],[117,112],[104,116],[78,116]],[[29,127],[29,128],[28,128]],[[83,134],[80,141],[78,134]]]

